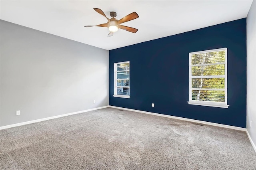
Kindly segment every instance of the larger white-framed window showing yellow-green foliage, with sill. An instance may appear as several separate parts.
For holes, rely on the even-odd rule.
[[[189,53],[188,104],[228,108],[227,48]]]

